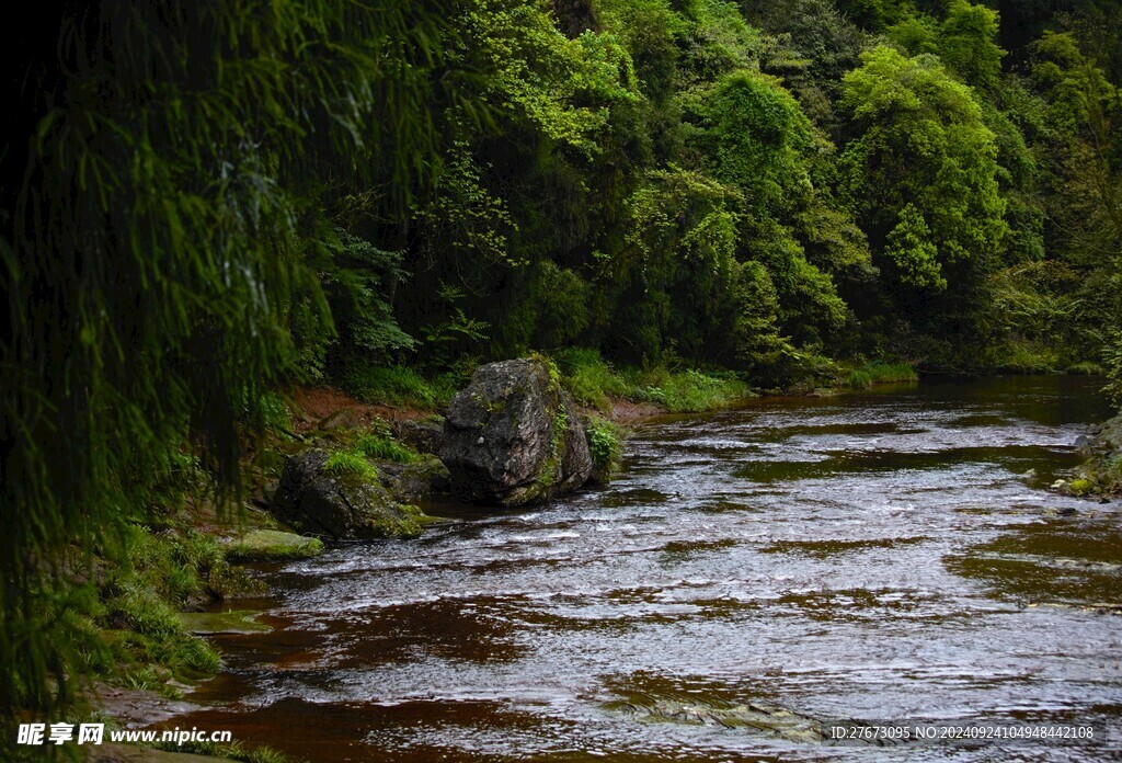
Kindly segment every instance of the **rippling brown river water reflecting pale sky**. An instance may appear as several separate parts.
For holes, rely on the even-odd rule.
[[[1101,380],[942,380],[641,426],[610,487],[265,568],[181,727],[309,761],[1122,759],[1122,505],[1048,491]],[[238,607],[242,605],[239,603]],[[833,747],[635,708],[1097,725]],[[172,724],[168,724],[172,725]],[[1105,737],[1105,738],[1104,738]]]

